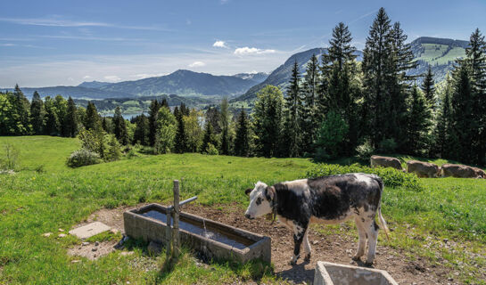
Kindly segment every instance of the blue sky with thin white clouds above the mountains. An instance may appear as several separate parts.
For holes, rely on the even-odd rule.
[[[276,69],[326,46],[339,22],[364,47],[384,7],[408,39],[486,32],[486,1],[0,2],[0,86],[136,80],[177,69],[217,75]]]

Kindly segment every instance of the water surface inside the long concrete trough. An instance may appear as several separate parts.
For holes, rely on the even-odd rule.
[[[165,213],[161,213],[157,210],[150,210],[141,215],[151,217],[152,219],[156,219],[164,224],[167,224],[167,216]],[[171,222],[173,223],[173,220],[171,220]],[[211,227],[206,228],[205,223],[200,224],[197,221],[183,219],[182,217],[179,220],[179,229],[187,232],[193,232],[210,240],[216,240],[233,248],[243,249],[255,242],[253,240],[247,240],[227,232],[218,232],[217,229],[212,229]]]

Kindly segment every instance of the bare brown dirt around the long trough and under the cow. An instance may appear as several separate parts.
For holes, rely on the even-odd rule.
[[[140,204],[136,207],[143,205]],[[93,221],[100,221],[120,232],[124,232],[123,212],[129,208],[136,207],[101,209],[78,226]],[[309,242],[312,247],[310,261],[304,262],[303,258],[301,258],[297,265],[291,266],[288,262],[293,250],[292,232],[284,227],[283,224],[278,222],[270,224],[270,221],[263,218],[256,220],[246,219],[243,216],[243,209],[236,204],[212,208],[188,204],[182,210],[270,237],[272,239],[272,263],[275,265],[275,273],[284,280],[296,284],[301,284],[302,282],[311,283],[314,278],[314,267],[317,261],[322,260],[344,265],[364,265],[363,262],[358,261],[357,263],[351,260],[351,256],[354,255],[357,248],[356,237],[358,233],[354,237],[349,234],[323,234],[311,230],[309,232]],[[354,228],[351,228],[350,231],[353,232]],[[95,259],[103,256],[114,250],[113,246],[112,241],[100,243],[99,247],[106,248],[106,250],[98,249],[100,251],[95,257],[88,258]],[[79,251],[87,252],[88,256],[95,254],[95,252],[90,251],[92,249],[89,247],[78,246],[78,248],[71,248],[70,250],[72,254],[77,255],[82,255]],[[380,244],[378,244],[376,252],[377,255],[373,267],[386,270],[400,284],[460,284],[456,280],[448,278],[449,268],[441,265],[432,265],[426,258],[418,257],[415,261],[409,261],[401,249],[384,247],[380,246]]]

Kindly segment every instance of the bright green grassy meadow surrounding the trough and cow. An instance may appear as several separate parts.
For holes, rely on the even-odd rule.
[[[146,264],[143,247],[136,245],[136,254],[131,256],[116,251],[97,261],[73,264],[75,257],[68,256],[66,248],[80,240],[42,234],[59,228],[69,231],[99,208],[169,201],[172,180],[180,178],[181,199],[198,195],[197,202],[207,207],[236,203],[245,208],[243,190],[253,183],[301,178],[315,167],[309,159],[187,153],[139,154],[133,159],[71,169],[65,160],[78,149],[77,139],[0,137],[0,147],[7,142],[20,151],[20,166],[15,175],[0,175],[0,284],[190,284],[260,278],[262,265],[214,263],[208,269],[197,266],[189,252],[174,271],[160,272],[157,268],[164,255],[149,258],[150,264]],[[461,281],[486,284],[478,269],[486,266],[486,180],[441,178],[420,179],[420,183],[423,191],[386,188],[383,216],[394,232],[391,241],[381,236],[380,243],[403,248],[411,260],[417,256],[438,263],[447,260],[451,270],[460,271]],[[356,235],[354,226],[349,234]],[[440,246],[443,239],[464,247],[444,250]],[[262,282],[279,282],[268,271],[261,278]]]

